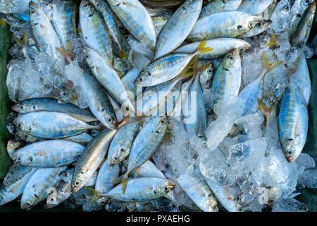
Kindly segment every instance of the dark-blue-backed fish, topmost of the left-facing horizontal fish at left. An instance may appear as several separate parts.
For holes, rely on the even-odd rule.
[[[62,112],[71,114],[73,117],[85,122],[97,121],[96,117],[84,109],[80,109],[76,105],[58,102],[54,98],[32,98],[22,100],[11,107],[15,112],[30,113],[30,112]]]

